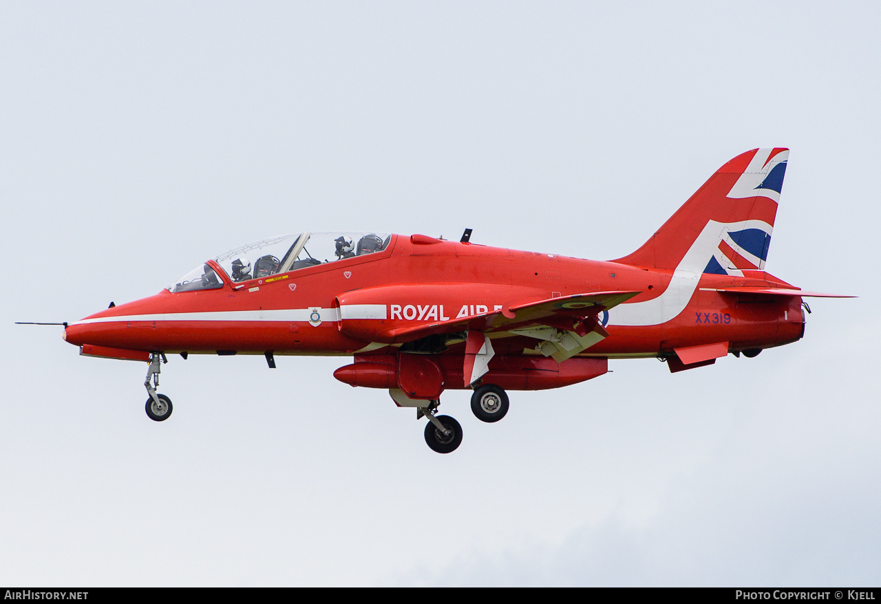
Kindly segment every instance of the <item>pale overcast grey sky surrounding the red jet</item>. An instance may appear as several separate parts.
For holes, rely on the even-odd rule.
[[[0,585],[877,585],[877,3],[0,2]],[[791,148],[767,269],[805,338],[444,395],[344,359],[78,357],[61,328],[264,236],[627,254]]]

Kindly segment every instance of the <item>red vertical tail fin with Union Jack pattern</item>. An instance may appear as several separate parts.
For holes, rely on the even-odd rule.
[[[642,247],[616,262],[737,276],[764,270],[788,155],[775,147],[731,159]]]

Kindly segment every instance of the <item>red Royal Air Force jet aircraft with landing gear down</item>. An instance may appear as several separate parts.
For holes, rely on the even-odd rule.
[[[438,453],[462,427],[437,415],[444,390],[472,389],[484,422],[507,390],[596,378],[609,358],[658,357],[671,372],[711,365],[804,334],[801,291],[766,273],[788,150],[747,151],[722,166],[624,258],[590,261],[426,235],[303,232],[205,261],[155,296],[67,325],[91,357],[148,362],[147,415],[166,354],[353,357],[334,376],[388,388],[426,416]],[[152,379],[152,383],[151,383]]]

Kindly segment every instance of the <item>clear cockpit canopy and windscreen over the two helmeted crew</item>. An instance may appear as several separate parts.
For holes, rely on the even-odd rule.
[[[347,258],[381,252],[391,235],[378,232],[302,232],[281,235],[236,247],[214,258],[235,282],[261,279]],[[207,263],[182,276],[170,291],[211,290],[223,280]]]

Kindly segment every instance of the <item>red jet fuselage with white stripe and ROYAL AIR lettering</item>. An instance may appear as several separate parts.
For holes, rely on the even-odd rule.
[[[70,324],[78,346],[188,354],[352,355],[389,352],[389,335],[418,326],[485,315],[590,291],[640,291],[597,317],[609,336],[581,357],[664,357],[672,350],[729,343],[763,349],[803,335],[801,298],[732,295],[732,286],[783,282],[677,274],[611,261],[589,261],[414,235],[392,236],[374,254],[234,282],[209,261],[222,287],[160,291]],[[496,354],[537,355],[536,341],[489,334]],[[437,354],[462,354],[455,345]]]

